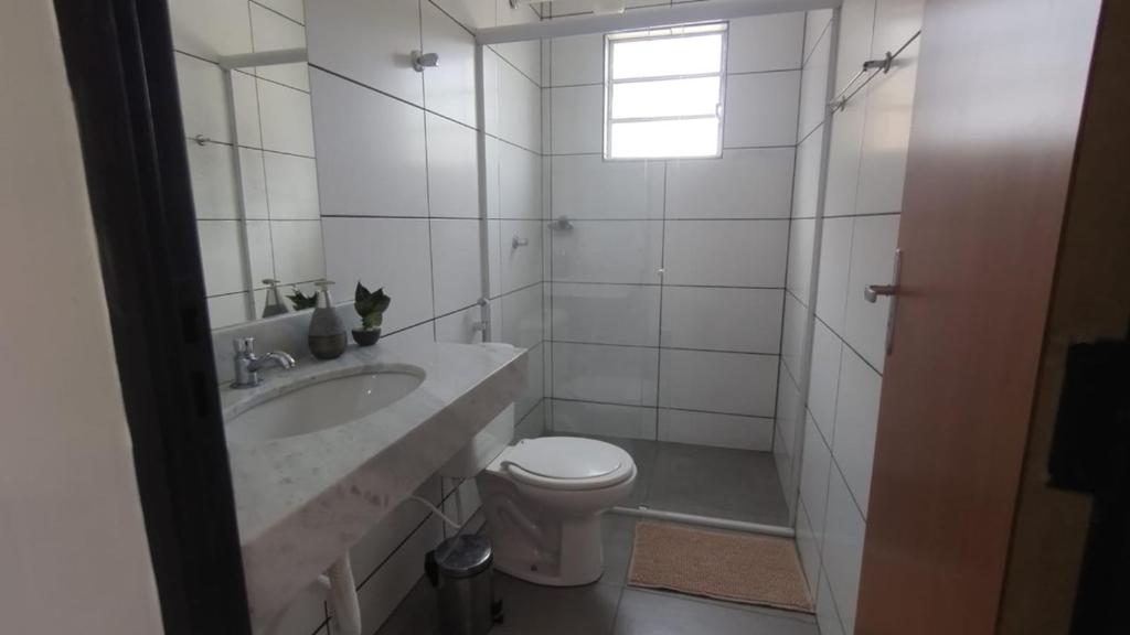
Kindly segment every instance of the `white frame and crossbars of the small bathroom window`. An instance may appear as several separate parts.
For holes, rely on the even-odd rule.
[[[714,32],[699,31],[701,27],[720,27]],[[718,72],[703,72],[692,75],[663,75],[655,77],[641,77],[631,79],[612,79],[612,58],[616,41],[640,41],[640,40],[679,40],[684,37],[699,37],[705,33],[719,33],[722,36],[721,60]],[[722,157],[722,133],[725,129],[725,85],[727,85],[727,50],[730,44],[730,23],[714,21],[693,25],[671,26],[662,28],[647,28],[638,31],[626,31],[619,33],[605,34],[605,160],[675,160],[696,158],[721,158]],[[655,157],[614,157],[612,156],[612,124],[649,121],[680,121],[696,119],[713,119],[710,115],[673,115],[673,116],[642,116],[612,119],[612,98],[617,84],[634,84],[641,81],[662,81],[670,79],[696,79],[702,77],[718,77],[718,153],[713,155],[664,155]]]

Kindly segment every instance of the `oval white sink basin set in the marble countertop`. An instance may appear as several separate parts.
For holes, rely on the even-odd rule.
[[[227,442],[262,443],[356,421],[406,397],[424,371],[380,371],[305,385],[254,406],[227,421]]]

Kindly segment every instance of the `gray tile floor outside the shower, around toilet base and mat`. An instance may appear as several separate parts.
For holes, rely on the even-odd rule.
[[[568,589],[496,574],[505,620],[492,635],[819,635],[812,616],[627,586],[635,519],[605,516],[605,575]],[[377,635],[441,635],[421,580]]]

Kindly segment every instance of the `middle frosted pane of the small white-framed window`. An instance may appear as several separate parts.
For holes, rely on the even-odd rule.
[[[633,81],[612,88],[612,118],[716,115],[718,77]]]

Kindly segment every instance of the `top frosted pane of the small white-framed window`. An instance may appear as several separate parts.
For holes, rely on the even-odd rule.
[[[722,34],[612,41],[612,79],[722,71]]]

